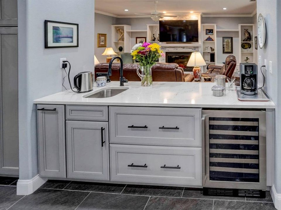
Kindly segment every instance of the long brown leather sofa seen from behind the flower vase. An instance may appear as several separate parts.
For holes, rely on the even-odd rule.
[[[95,65],[96,73],[107,73],[109,63]],[[123,64],[123,75],[128,81],[140,81],[137,75],[139,64]],[[119,81],[120,63],[112,64],[112,81]],[[193,74],[184,74],[184,70],[175,63],[157,63],[152,67],[152,80],[155,82],[192,82]]]

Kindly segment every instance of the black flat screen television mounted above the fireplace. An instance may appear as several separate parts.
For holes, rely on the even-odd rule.
[[[198,42],[198,20],[160,20],[160,42]]]

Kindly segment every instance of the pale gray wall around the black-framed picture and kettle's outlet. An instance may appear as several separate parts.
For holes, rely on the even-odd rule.
[[[63,90],[60,58],[71,62],[71,78],[94,69],[94,11],[94,0],[18,1],[20,179],[38,174],[36,106],[32,101]],[[78,23],[79,47],[45,49],[44,20]]]

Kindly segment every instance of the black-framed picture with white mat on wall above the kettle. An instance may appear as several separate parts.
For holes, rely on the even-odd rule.
[[[79,46],[77,23],[45,20],[45,48],[68,48]]]

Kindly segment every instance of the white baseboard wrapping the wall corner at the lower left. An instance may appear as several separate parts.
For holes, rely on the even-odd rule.
[[[30,195],[40,188],[48,179],[37,174],[32,179],[19,179],[17,182],[17,195]]]

